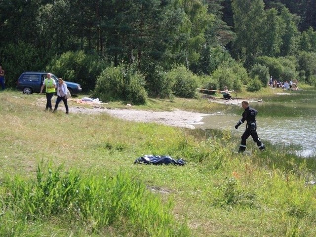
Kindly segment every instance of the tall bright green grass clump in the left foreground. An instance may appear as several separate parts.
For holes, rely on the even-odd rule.
[[[42,222],[55,218],[62,225],[81,227],[88,235],[103,236],[112,227],[121,236],[190,236],[186,225],[169,212],[172,202],[163,202],[127,172],[96,176],[79,170],[65,172],[62,166],[51,164],[42,169],[39,165],[36,180],[21,176],[2,180],[1,223],[13,215],[22,221],[1,225],[2,236],[12,235],[12,230],[28,231],[26,223],[40,228]]]

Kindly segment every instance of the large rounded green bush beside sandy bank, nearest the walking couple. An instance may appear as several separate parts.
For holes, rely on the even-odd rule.
[[[145,104],[147,92],[144,84],[144,76],[133,66],[110,66],[98,77],[92,96],[102,101],[123,100],[133,104]]]

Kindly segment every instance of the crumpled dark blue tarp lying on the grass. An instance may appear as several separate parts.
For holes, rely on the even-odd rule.
[[[174,164],[174,165],[184,165],[186,163],[183,159],[175,160],[169,156],[153,156],[145,155],[143,157],[137,158],[134,164]]]

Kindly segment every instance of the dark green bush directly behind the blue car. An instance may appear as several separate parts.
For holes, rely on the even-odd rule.
[[[56,55],[46,67],[46,71],[65,80],[77,82],[83,91],[89,92],[94,89],[96,78],[106,65],[97,54],[86,54],[81,50]]]

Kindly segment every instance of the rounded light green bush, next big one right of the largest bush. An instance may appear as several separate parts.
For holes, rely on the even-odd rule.
[[[172,69],[167,75],[167,79],[173,84],[174,95],[184,98],[193,98],[198,86],[198,77],[184,66]]]

